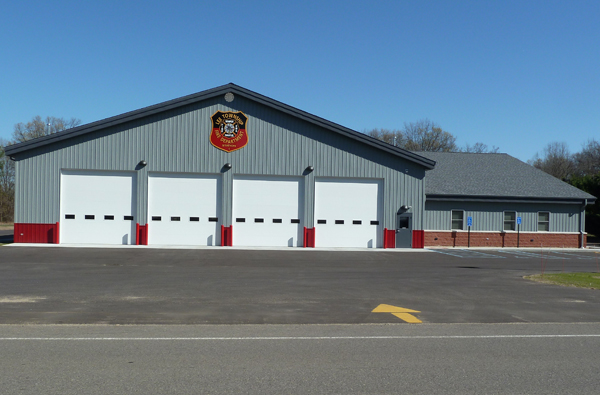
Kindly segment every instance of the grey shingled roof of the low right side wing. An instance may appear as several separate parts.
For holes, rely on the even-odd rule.
[[[427,172],[427,200],[570,201],[596,198],[508,154],[419,152],[435,160]]]

